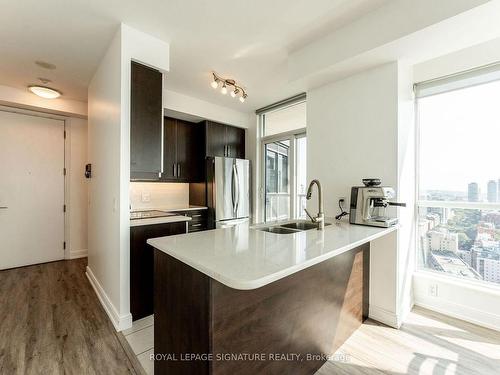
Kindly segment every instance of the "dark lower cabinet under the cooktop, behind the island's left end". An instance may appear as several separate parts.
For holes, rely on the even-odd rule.
[[[130,228],[130,313],[132,320],[153,314],[154,249],[149,238],[186,233],[186,222]]]

